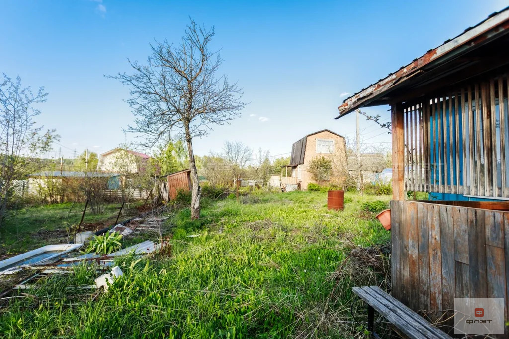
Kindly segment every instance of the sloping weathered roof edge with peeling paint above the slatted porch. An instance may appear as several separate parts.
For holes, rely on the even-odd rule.
[[[454,72],[459,73],[466,67],[479,63],[481,61],[479,59],[482,58],[480,55],[473,55],[470,59],[463,59],[463,57],[498,38],[506,38],[507,33],[509,33],[509,7],[491,14],[487,19],[474,27],[469,27],[457,37],[445,41],[437,48],[430,49],[410,64],[402,66],[399,70],[347,98],[337,108],[340,116],[335,119],[361,107],[394,103],[397,99],[405,98],[405,91],[410,89],[414,90],[412,92],[414,96],[419,96],[422,94],[419,93],[419,86],[429,85],[439,79],[443,80]],[[501,44],[502,50],[506,49],[504,45],[507,46],[507,44]]]

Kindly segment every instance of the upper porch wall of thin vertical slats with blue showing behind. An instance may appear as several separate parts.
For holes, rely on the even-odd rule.
[[[509,197],[509,77],[406,104],[405,190]]]

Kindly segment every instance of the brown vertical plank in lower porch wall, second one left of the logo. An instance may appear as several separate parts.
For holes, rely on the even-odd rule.
[[[442,248],[440,242],[440,206],[431,207],[430,230],[430,310],[442,310]]]

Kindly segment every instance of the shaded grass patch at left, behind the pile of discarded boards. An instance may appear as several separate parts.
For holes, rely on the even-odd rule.
[[[130,207],[139,204],[139,202],[130,204]],[[93,214],[87,209],[83,224],[114,222],[120,206],[120,203],[106,204],[101,214]],[[24,252],[51,242],[72,242],[72,235],[67,239],[66,230],[79,223],[84,207],[84,203],[64,203],[10,211],[0,229],[0,255]],[[127,206],[124,208],[123,214],[131,213],[127,211]],[[123,220],[122,217],[120,220]]]

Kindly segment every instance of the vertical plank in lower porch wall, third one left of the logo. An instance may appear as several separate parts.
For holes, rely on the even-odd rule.
[[[430,229],[429,204],[417,205],[419,230],[419,308],[430,309]]]

